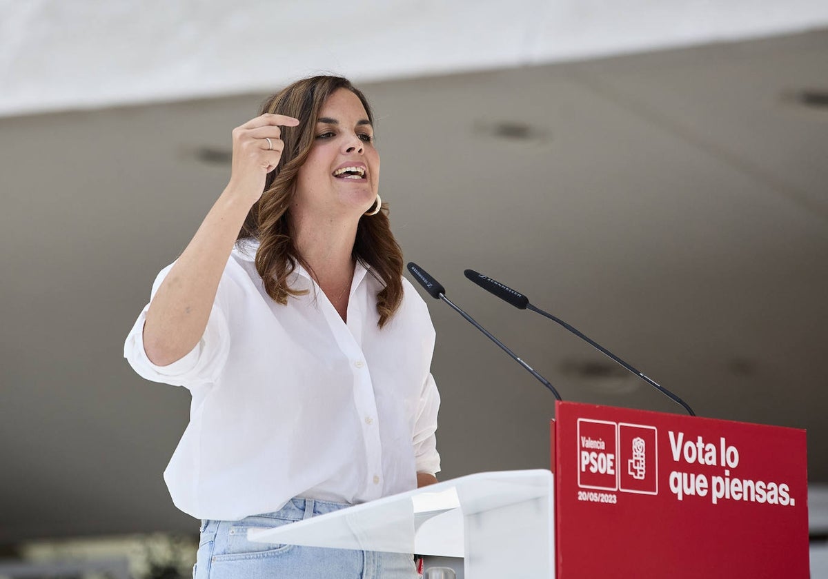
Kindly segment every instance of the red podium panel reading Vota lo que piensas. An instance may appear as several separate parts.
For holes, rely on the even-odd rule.
[[[805,431],[558,402],[559,579],[807,579]]]

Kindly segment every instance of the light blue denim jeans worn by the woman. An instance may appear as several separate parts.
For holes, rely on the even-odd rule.
[[[193,579],[416,579],[409,553],[253,543],[248,529],[278,527],[349,505],[292,499],[275,513],[201,522]]]

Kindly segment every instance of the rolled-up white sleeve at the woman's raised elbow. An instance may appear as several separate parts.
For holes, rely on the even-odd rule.
[[[155,283],[152,285],[150,303],[152,303],[152,298],[155,297],[158,288],[161,286],[161,282],[170,272],[172,265],[161,270],[161,273],[156,277]],[[213,308],[210,310],[205,332],[199,342],[181,359],[166,366],[153,364],[147,357],[146,350],[144,350],[143,330],[150,304],[144,306],[132,326],[126,342],[123,344],[123,356],[127,358],[132,369],[147,380],[176,386],[190,387],[214,382],[224,366],[224,362],[227,361],[230,349],[227,313],[223,308],[226,301],[223,285],[226,285],[224,278],[219,283],[219,291],[216,293],[216,299]]]

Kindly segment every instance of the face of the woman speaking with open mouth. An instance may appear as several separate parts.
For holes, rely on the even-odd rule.
[[[379,153],[368,114],[357,95],[338,89],[316,122],[314,144],[296,178],[296,203],[312,213],[359,215],[371,208],[378,187]]]

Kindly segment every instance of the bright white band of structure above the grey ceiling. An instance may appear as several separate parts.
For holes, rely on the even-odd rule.
[[[822,0],[0,0],[0,116],[579,60],[826,26]]]

